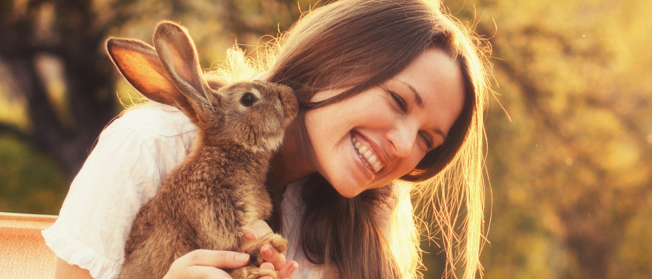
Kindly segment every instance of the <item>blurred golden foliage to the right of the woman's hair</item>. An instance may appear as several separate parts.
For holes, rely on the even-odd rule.
[[[649,278],[652,2],[450,8],[494,46],[511,116],[494,102],[486,121],[486,278]]]

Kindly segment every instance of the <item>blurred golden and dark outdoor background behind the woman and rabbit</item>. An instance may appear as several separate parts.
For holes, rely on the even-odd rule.
[[[186,25],[209,68],[286,31],[301,0],[1,0],[0,211],[59,213],[136,93],[103,51]],[[493,46],[485,278],[652,278],[652,1],[445,0]],[[217,62],[216,62],[217,61]],[[445,263],[423,242],[426,278]]]

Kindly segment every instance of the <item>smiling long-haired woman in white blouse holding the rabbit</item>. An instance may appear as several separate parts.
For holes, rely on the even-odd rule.
[[[464,278],[474,278],[488,90],[481,57],[438,3],[344,0],[299,20],[269,47],[266,63],[240,62],[216,73],[225,79],[267,71],[262,78],[291,86],[303,109],[271,164],[274,216],[245,234],[280,231],[288,238],[287,258],[263,246],[263,267],[281,278],[417,276],[411,188],[443,230],[449,266],[461,259]],[[117,276],[138,207],[192,139],[183,114],[155,106],[128,111],[102,132],[59,220],[44,231],[59,257],[57,277]],[[451,225],[458,200],[467,209],[464,236]],[[177,259],[166,278],[228,278],[222,269],[247,261],[234,252],[196,250]]]

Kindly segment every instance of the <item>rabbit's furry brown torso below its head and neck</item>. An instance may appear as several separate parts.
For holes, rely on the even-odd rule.
[[[191,250],[240,250],[243,227],[267,219],[272,209],[261,179],[271,153],[261,155],[235,144],[202,146],[188,155],[197,158],[173,170],[138,211],[120,278],[162,278]]]

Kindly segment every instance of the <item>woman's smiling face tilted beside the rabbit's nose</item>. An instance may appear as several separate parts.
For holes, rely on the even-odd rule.
[[[318,92],[312,100],[343,91]],[[456,63],[439,49],[426,50],[382,85],[308,111],[310,164],[342,196],[387,185],[444,142],[463,102]]]

